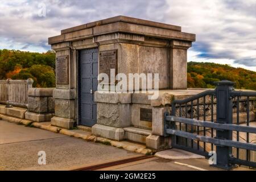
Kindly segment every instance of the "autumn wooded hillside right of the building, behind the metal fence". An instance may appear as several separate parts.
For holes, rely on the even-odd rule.
[[[214,81],[236,82],[237,89],[256,90],[256,72],[227,64],[188,62],[189,88],[214,88]]]

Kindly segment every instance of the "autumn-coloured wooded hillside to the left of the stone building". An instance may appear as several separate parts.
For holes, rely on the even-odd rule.
[[[0,49],[0,80],[33,78],[35,87],[55,87],[55,52]]]

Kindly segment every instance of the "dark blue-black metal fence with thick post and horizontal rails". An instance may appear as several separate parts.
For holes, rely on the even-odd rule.
[[[236,91],[234,82],[227,80],[216,84],[214,90],[172,102],[171,114],[164,113],[165,135],[172,136],[174,148],[206,157],[216,152],[213,166],[256,167],[256,141],[251,139],[256,127],[250,126],[255,121],[256,92]]]

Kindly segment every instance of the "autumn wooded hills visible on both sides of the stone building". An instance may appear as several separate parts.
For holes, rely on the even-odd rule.
[[[34,79],[36,87],[55,87],[55,52],[0,49],[0,80]],[[256,90],[256,72],[229,65],[188,62],[189,88],[214,88],[214,81],[230,80],[240,89]]]

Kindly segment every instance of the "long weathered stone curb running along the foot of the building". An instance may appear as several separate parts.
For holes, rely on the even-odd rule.
[[[102,144],[106,144],[113,147],[123,148],[127,151],[137,152],[144,155],[153,155],[155,153],[154,150],[151,150],[150,148],[146,148],[146,146],[144,146],[143,144],[132,143],[127,141],[117,141],[117,140],[112,140],[112,139],[103,138],[103,137],[96,137],[82,130],[67,130],[61,127],[51,126],[50,122],[34,122],[28,119],[15,118],[5,114],[0,114],[0,119],[3,119],[4,121],[8,121],[8,122],[13,122],[18,125],[22,124],[30,127],[36,127],[43,130],[52,131],[54,133],[68,135],[69,137],[81,138],[88,142],[97,142],[97,143],[102,143]]]

